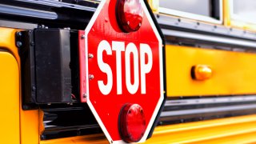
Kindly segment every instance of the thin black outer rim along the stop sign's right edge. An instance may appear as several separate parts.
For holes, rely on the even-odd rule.
[[[166,41],[165,41],[165,37],[164,37],[164,34],[162,33],[162,30],[161,30],[161,27],[158,25],[158,21],[157,19],[155,18],[154,16],[154,13],[152,12],[151,8],[150,8],[150,5],[148,3],[147,0],[144,0],[144,3],[146,5],[146,9],[147,11],[149,12],[150,14],[150,18],[152,19],[152,21],[154,22],[154,26],[156,27],[157,31],[158,31],[158,34],[160,35],[160,38],[162,38],[162,46],[159,46],[159,48],[162,47],[162,59],[160,59],[160,62],[162,64],[162,67],[161,67],[161,74],[162,74],[162,85],[163,85],[163,89],[162,89],[162,94],[163,94],[163,102],[162,102],[162,105],[160,106],[160,109],[158,110],[158,114],[156,116],[156,118],[154,119],[154,124],[153,126],[151,126],[151,130],[150,130],[150,133],[148,134],[147,138],[151,138],[153,132],[154,132],[154,128],[155,126],[158,125],[158,120],[160,118],[160,115],[162,113],[162,110],[165,106],[165,103],[166,103],[166,99],[167,99],[167,96],[166,96],[166,78],[164,78],[166,76]]]

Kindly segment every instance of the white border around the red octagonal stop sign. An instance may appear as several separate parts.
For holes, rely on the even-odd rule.
[[[148,136],[148,134],[150,133],[151,127],[154,124],[154,120],[157,117],[158,111],[160,110],[160,107],[162,105],[163,99],[164,99],[164,95],[163,95],[163,67],[162,67],[162,39],[160,37],[160,35],[158,34],[158,30],[156,28],[156,26],[154,26],[154,22],[153,19],[150,17],[150,13],[146,8],[146,4],[143,2],[143,0],[140,0],[141,4],[142,4],[142,8],[144,9],[144,12],[146,14],[146,17],[148,18],[149,22],[150,22],[150,26],[152,27],[152,29],[154,30],[154,34],[156,34],[156,37],[158,38],[158,42],[159,42],[159,69],[160,69],[160,98],[158,100],[158,104],[156,106],[156,108],[154,109],[154,113],[152,115],[152,117],[150,118],[150,122],[148,124],[148,126],[146,127],[146,131],[145,134],[143,135],[142,139],[139,142],[145,142],[146,138]],[[106,0],[102,0],[102,2],[100,2],[97,10],[95,11],[93,17],[90,19],[90,22],[88,23],[88,26],[86,26],[86,40],[85,40],[85,46],[86,46],[86,71],[88,71],[88,33],[90,32],[92,26],[94,25],[94,22],[96,20],[96,18],[98,18],[98,14],[100,13],[100,11],[102,10],[102,7],[105,5]],[[94,117],[97,119],[97,122],[99,124],[99,126],[101,126],[102,131],[104,132],[104,134],[106,135],[106,138],[108,139],[108,141],[110,143],[126,143],[122,140],[118,140],[118,141],[113,141],[112,138],[110,137],[110,134],[108,133],[108,131],[106,130],[106,127],[104,126],[101,118],[99,118],[97,111],[94,109],[94,106],[92,105],[92,103],[90,102],[90,92],[89,92],[89,78],[88,76],[86,77],[86,92],[87,92],[87,104],[90,107],[90,110],[92,111],[92,113],[94,114]]]

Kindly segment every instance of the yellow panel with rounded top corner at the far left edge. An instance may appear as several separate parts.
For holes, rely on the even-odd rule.
[[[11,54],[1,51],[0,68],[0,140],[1,143],[18,144],[20,143],[18,63]]]

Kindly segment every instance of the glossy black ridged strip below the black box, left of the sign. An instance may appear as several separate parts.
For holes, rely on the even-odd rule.
[[[41,140],[66,138],[87,134],[102,134],[102,129],[84,103],[42,106],[45,130]]]

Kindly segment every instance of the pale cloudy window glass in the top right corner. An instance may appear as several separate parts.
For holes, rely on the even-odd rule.
[[[256,22],[255,0],[233,0],[233,14],[247,22]]]

